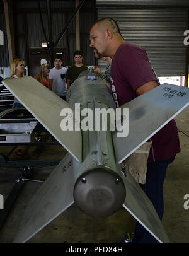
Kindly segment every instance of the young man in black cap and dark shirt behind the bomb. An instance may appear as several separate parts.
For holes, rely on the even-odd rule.
[[[69,86],[71,86],[71,84],[74,83],[74,81],[78,78],[79,74],[82,71],[88,69],[88,67],[82,63],[83,57],[80,50],[76,50],[76,52],[74,52],[74,61],[75,61],[75,64],[67,69],[67,73],[66,73],[67,88],[69,88]]]

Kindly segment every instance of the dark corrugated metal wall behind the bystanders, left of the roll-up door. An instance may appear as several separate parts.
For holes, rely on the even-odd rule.
[[[71,1],[51,1],[52,11],[52,33],[54,42],[60,35],[60,32],[64,29],[71,18],[72,10],[75,8],[75,0]],[[40,9],[42,10],[42,18],[45,26],[45,32],[47,38],[48,35],[48,22],[47,22],[47,4],[46,1],[40,2]],[[88,9],[88,11],[85,11]],[[45,10],[45,12],[44,12]],[[65,11],[64,11],[65,10]],[[89,11],[91,10],[91,11]],[[14,2],[15,12],[15,45],[16,45],[16,57],[21,57],[27,63],[29,60],[28,54],[30,49],[42,47],[42,42],[45,42],[45,36],[43,35],[42,25],[40,23],[40,14],[38,13],[38,2],[37,1],[15,1]],[[95,59],[93,53],[89,47],[89,28],[95,21],[95,4],[93,0],[86,0],[83,4],[80,13],[80,38],[81,38],[81,51],[83,52],[84,64],[93,65]],[[0,30],[1,27],[5,28],[4,15],[0,15]],[[66,40],[67,37],[67,40]],[[5,38],[4,50],[0,52],[0,66],[9,66],[8,59],[8,47],[6,45]],[[76,21],[72,21],[66,35],[62,38],[55,47],[55,50],[66,49],[67,57],[66,64],[73,64],[73,53],[76,50]]]

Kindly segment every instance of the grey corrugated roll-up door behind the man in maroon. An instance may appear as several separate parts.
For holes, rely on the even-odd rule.
[[[185,74],[188,8],[100,6],[98,19],[106,16],[117,20],[125,41],[144,47],[158,76]],[[104,70],[106,62],[100,60],[99,66]]]

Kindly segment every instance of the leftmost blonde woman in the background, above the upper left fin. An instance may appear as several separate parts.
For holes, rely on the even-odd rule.
[[[23,78],[25,76],[25,64],[22,59],[14,59],[11,63],[11,78]],[[23,105],[14,98],[13,108],[24,108]]]

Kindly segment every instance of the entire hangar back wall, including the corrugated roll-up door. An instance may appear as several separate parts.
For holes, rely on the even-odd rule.
[[[95,8],[96,2],[96,8]],[[128,4],[125,4],[125,3]],[[115,3],[118,3],[115,5]],[[137,4],[136,4],[137,3]],[[153,6],[152,4],[153,3]],[[159,3],[159,4],[158,4]],[[164,5],[162,5],[164,3]],[[188,30],[187,1],[101,1],[88,0],[80,10],[80,40],[84,64],[94,65],[95,57],[89,48],[89,30],[97,18],[112,16],[118,21],[123,37],[146,49],[158,76],[181,76],[186,74],[186,46],[183,32]],[[173,4],[173,6],[171,6]],[[4,32],[4,46],[1,46],[0,66],[9,66],[6,26],[3,4],[0,4],[0,30]],[[53,37],[57,39],[71,17],[75,0],[51,1]],[[43,23],[48,37],[46,1],[40,1]],[[42,56],[48,57],[47,49],[42,49],[45,37],[40,24],[37,1],[13,1],[14,33],[16,57],[25,60],[26,66],[36,66]],[[76,50],[75,20],[55,47],[54,52],[63,52],[64,66],[73,64]],[[49,61],[49,60],[48,60]],[[97,63],[96,63],[97,64]],[[103,70],[106,62],[98,61]],[[36,71],[33,71],[33,74]],[[31,75],[33,75],[31,74]]]

